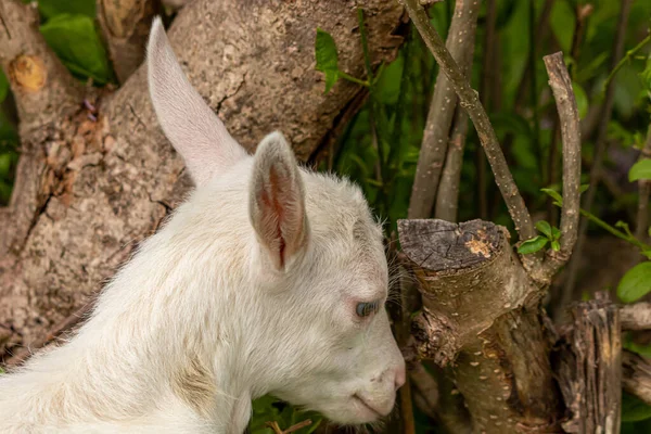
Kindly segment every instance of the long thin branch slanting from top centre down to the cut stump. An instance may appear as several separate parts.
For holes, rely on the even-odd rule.
[[[413,24],[421,34],[423,40],[432,51],[434,59],[438,63],[441,71],[448,77],[450,85],[457,92],[460,99],[460,105],[467,111],[470,118],[472,119],[482,145],[486,151],[488,163],[495,175],[497,187],[499,188],[509,214],[515,225],[515,230],[520,234],[521,240],[528,240],[535,235],[534,225],[529,216],[528,209],[524,204],[524,200],[515,186],[513,176],[509,170],[505,155],[501,152],[497,136],[488,115],[484,111],[482,103],[480,102],[477,92],[471,87],[463,73],[459,68],[459,65],[455,62],[450,53],[445,48],[441,36],[434,30],[430,24],[430,18],[425,10],[420,5],[418,0],[404,0],[405,8],[409,13],[409,16],[413,21]]]

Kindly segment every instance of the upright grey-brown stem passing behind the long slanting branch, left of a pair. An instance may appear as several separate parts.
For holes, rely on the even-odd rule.
[[[480,5],[481,2],[475,0],[457,0],[456,2],[446,46],[449,55],[459,62],[461,71],[468,69],[472,62]],[[432,213],[456,104],[455,88],[450,86],[447,74],[439,72],[416,167],[407,213],[409,218],[427,218]]]

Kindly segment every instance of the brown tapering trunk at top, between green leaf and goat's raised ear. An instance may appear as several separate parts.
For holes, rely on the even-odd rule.
[[[159,10],[158,0],[97,0],[98,21],[119,82],[142,63],[152,18]]]

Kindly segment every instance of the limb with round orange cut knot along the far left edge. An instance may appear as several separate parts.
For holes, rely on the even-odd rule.
[[[9,77],[21,120],[22,158],[16,168],[14,194],[0,208],[0,282],[2,254],[16,252],[34,225],[34,214],[44,203],[49,170],[43,142],[56,135],[54,124],[69,118],[80,105],[80,87],[52,54],[38,31],[35,5],[17,0],[0,3],[0,63]],[[59,128],[61,129],[61,128]],[[50,142],[51,144],[51,142]]]

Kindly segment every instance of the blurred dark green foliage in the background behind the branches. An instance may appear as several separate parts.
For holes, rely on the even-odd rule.
[[[591,10],[585,17],[583,37],[575,41],[578,11]],[[549,20],[540,23],[541,12],[551,5]],[[99,36],[94,0],[39,0],[40,30],[50,47],[80,80],[93,86],[115,84],[106,50]],[[583,119],[584,179],[592,163],[595,130],[600,123],[603,84],[611,73],[621,2],[615,0],[500,0],[496,1],[496,39],[493,59],[486,53],[486,2],[480,14],[472,69],[472,86],[482,92],[510,169],[534,214],[554,221],[556,210],[547,206],[541,188],[558,184],[559,175],[550,173],[549,155],[554,139],[556,105],[542,56],[562,50]],[[430,9],[432,24],[445,37],[454,2],[443,1]],[[584,10],[585,11],[585,10]],[[649,35],[651,1],[633,3],[626,29],[626,50]],[[315,35],[317,29],[315,29]],[[360,42],[361,43],[361,42]],[[532,55],[532,50],[535,50]],[[642,47],[614,76],[614,108],[608,125],[609,152],[605,161],[608,182],[600,184],[592,212],[601,219],[631,221],[637,206],[636,183],[627,174],[639,155],[650,124],[651,58]],[[482,65],[489,65],[483,71]],[[346,127],[340,140],[319,163],[319,169],[346,175],[358,182],[390,233],[396,221],[407,216],[416,164],[418,162],[430,98],[437,67],[413,29],[395,61],[382,65],[371,81],[367,103]],[[368,77],[357,77],[366,80]],[[336,86],[336,85],[334,85]],[[372,128],[372,126],[374,128]],[[376,143],[373,144],[376,132]],[[490,170],[481,156],[473,128],[469,128],[461,174],[458,220],[483,218],[512,228]],[[8,80],[0,72],[0,205],[11,197],[20,153],[15,106]],[[534,218],[538,220],[540,218]],[[590,234],[603,229],[590,227]],[[628,347],[651,357],[648,346],[633,341]],[[418,410],[417,410],[418,411]],[[317,414],[302,413],[264,397],[256,401],[251,423],[254,433],[271,433],[266,421],[276,420],[288,427]],[[436,432],[435,421],[417,414],[420,433]],[[318,423],[299,433],[308,433]],[[625,395],[623,433],[651,433],[651,408]]]

